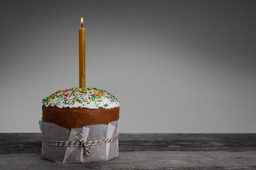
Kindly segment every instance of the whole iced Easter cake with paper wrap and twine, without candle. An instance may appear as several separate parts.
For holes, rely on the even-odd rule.
[[[39,121],[42,156],[59,163],[87,163],[116,158],[119,102],[96,88],[68,88],[43,99]]]

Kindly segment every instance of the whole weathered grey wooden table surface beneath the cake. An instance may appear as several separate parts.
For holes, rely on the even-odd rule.
[[[256,134],[119,134],[119,157],[60,164],[41,158],[41,133],[0,133],[0,169],[256,169]]]

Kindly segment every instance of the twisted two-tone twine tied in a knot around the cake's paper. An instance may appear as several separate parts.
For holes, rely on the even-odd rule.
[[[89,150],[89,146],[93,146],[96,144],[105,144],[105,143],[112,143],[116,140],[118,140],[119,136],[117,135],[116,137],[112,137],[110,139],[104,139],[104,140],[98,140],[98,141],[85,141],[85,139],[83,138],[83,135],[81,133],[77,133],[74,134],[75,137],[77,137],[77,139],[79,141],[50,141],[47,139],[43,138],[43,143],[44,144],[48,144],[51,146],[83,146],[85,148],[84,152],[86,156],[89,156],[91,154],[90,150]]]

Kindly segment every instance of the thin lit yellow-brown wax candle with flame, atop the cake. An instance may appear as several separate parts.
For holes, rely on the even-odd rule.
[[[79,88],[85,88],[85,28],[83,28],[83,17],[79,27]]]

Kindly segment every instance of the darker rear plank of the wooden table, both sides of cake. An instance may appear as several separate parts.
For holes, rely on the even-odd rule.
[[[256,150],[256,134],[121,133],[119,150]],[[41,133],[0,133],[0,154],[41,153]]]

